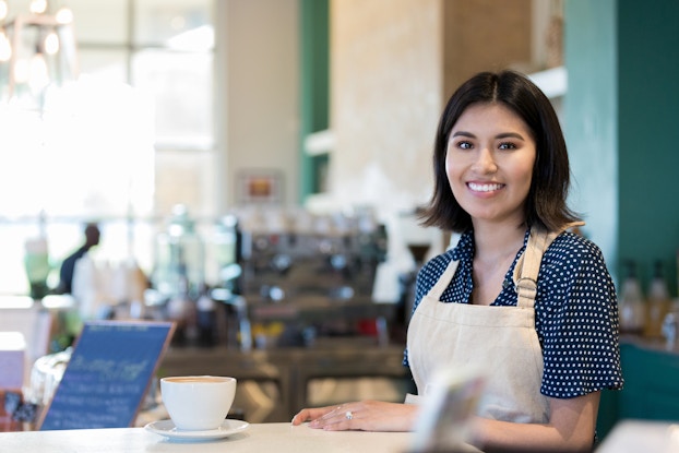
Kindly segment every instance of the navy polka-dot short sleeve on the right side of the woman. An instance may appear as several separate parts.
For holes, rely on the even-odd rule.
[[[555,240],[543,259],[535,308],[544,395],[622,388],[616,289],[596,245],[571,233]]]

